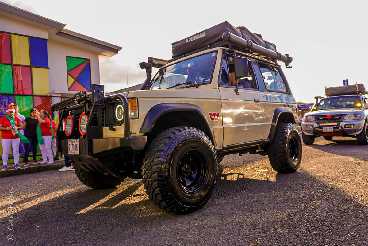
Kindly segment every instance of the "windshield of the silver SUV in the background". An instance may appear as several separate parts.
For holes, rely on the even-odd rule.
[[[318,103],[316,110],[361,108],[361,106],[362,102],[359,96],[336,96],[322,99]]]

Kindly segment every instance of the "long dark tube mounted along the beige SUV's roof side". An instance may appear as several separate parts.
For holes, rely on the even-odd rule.
[[[233,43],[234,45],[240,46],[243,49],[250,49],[252,52],[256,52],[271,59],[282,61],[283,63],[285,63],[285,66],[289,66],[291,61],[293,61],[293,57],[290,57],[288,54],[282,55],[279,52],[264,48],[248,39],[244,39],[237,35],[234,35],[231,32],[224,32],[222,34],[222,39],[224,41]]]

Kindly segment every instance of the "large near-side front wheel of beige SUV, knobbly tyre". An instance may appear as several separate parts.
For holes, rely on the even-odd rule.
[[[199,129],[167,129],[149,145],[142,176],[146,193],[160,208],[178,214],[198,210],[215,187],[215,147]]]

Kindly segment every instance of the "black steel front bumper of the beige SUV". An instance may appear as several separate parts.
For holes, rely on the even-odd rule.
[[[98,158],[126,151],[138,152],[144,149],[146,143],[146,136],[93,138],[91,139],[91,152],[89,152],[87,139],[81,138],[79,139],[79,155],[68,154],[68,140],[61,140],[61,150],[63,155],[73,159],[76,157]]]

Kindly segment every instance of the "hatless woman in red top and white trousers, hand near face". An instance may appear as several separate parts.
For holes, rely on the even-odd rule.
[[[53,164],[54,159],[52,157],[51,140],[53,136],[53,129],[49,117],[47,117],[47,111],[41,110],[37,112],[38,126],[36,129],[37,139],[42,154],[41,164]],[[49,162],[47,162],[47,157]]]

